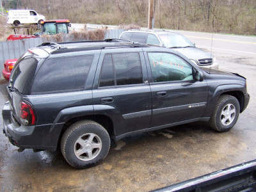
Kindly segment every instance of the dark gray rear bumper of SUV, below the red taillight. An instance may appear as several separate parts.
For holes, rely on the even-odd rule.
[[[3,132],[12,145],[35,150],[56,150],[63,124],[19,125],[12,117],[9,102],[4,104],[2,115]]]

